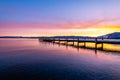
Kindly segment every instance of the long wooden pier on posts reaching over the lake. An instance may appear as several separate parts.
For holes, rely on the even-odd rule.
[[[86,43],[95,43],[95,49],[101,49],[103,50],[104,48],[104,43],[107,44],[120,44],[120,39],[106,39],[106,38],[97,38],[97,37],[90,37],[90,38],[80,38],[80,37],[43,37],[40,38],[42,41],[46,41],[46,42],[57,42],[57,43],[61,43],[61,42],[65,42],[65,45],[68,45],[69,42],[72,42],[72,46],[74,46],[74,43],[77,42],[77,46],[78,47],[87,47]],[[80,46],[79,43],[84,43],[83,46]],[[98,45],[101,45],[98,48]]]

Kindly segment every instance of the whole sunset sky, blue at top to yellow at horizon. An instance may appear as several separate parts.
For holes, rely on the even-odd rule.
[[[120,0],[0,0],[0,36],[120,32]]]

